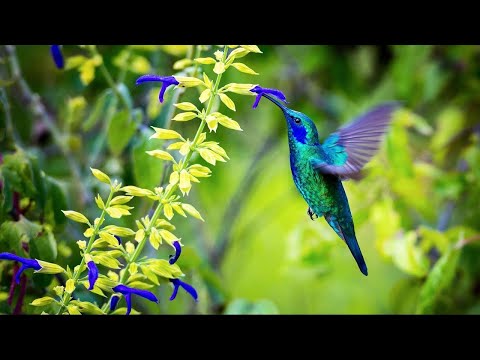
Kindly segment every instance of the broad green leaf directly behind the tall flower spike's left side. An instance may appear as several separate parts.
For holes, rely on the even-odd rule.
[[[154,141],[148,141],[152,130],[142,130],[132,151],[133,175],[135,184],[141,188],[153,189],[158,186],[163,174],[163,162],[158,161],[146,152],[154,150],[157,146]]]

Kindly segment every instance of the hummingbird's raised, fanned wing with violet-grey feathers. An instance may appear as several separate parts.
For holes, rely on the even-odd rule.
[[[397,102],[379,105],[328,136],[321,145],[322,156],[311,161],[313,167],[342,179],[355,178],[377,152],[391,115],[399,105]]]

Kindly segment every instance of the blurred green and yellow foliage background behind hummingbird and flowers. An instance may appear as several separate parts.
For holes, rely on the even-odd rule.
[[[167,101],[159,104],[158,87],[134,83],[144,73],[175,73],[173,64],[189,47],[98,49],[113,77],[121,77],[134,106],[144,111],[131,131],[129,124],[105,125],[107,115],[100,110],[92,119],[109,87],[98,68],[85,86],[78,71],[55,68],[48,46],[18,46],[17,55],[24,79],[54,115],[87,189],[102,191],[89,175],[90,166],[124,184],[155,186],[163,166],[143,155],[146,146],[152,146],[146,144],[145,128],[166,124],[176,95],[167,91]],[[262,54],[245,58],[259,76],[227,72],[222,83],[281,89],[289,107],[314,120],[321,138],[383,101],[404,105],[365,177],[344,182],[369,276],[360,273],[346,245],[323,218],[312,221],[307,215],[291,178],[282,113],[265,100],[252,109],[253,97],[233,94],[237,111],[225,113],[244,131],[220,129],[209,134],[231,160],[218,163],[212,177],[196,184],[188,199],[205,223],[173,219],[185,244],[179,265],[199,290],[200,301],[192,304],[188,296],[179,296],[175,302],[160,301],[160,310],[144,302],[137,307],[145,313],[178,314],[479,313],[480,47],[260,45],[260,49]],[[122,56],[127,51],[125,67]],[[213,51],[215,46],[204,53]],[[77,47],[64,46],[67,57],[78,53]],[[211,69],[205,71],[210,74]],[[4,89],[22,147],[58,181],[68,208],[82,209],[78,183],[52,134],[11,86]],[[85,102],[77,98],[72,105],[71,99],[79,96]],[[198,103],[198,94],[187,91],[181,101]],[[0,116],[4,120],[4,111]],[[190,137],[196,129],[193,122],[172,126]],[[1,150],[11,149],[2,138]],[[86,213],[94,214],[94,203],[85,206]],[[134,206],[132,218],[149,209],[149,203]],[[79,229],[71,222],[54,228],[59,258],[65,264],[77,262]],[[168,251],[161,255],[167,257]],[[0,291],[6,291],[6,273],[0,280]],[[170,291],[160,287],[161,299]],[[8,312],[6,305],[0,306]]]

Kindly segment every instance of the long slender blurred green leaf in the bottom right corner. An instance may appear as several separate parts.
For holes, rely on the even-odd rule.
[[[437,261],[420,291],[417,314],[435,313],[437,300],[455,278],[460,253],[460,250],[452,249]]]

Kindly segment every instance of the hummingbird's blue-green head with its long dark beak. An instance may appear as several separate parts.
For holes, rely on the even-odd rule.
[[[287,121],[288,136],[290,139],[293,138],[297,142],[307,145],[319,144],[317,127],[312,119],[299,111],[289,109],[270,95],[262,95],[282,109],[285,120]]]

